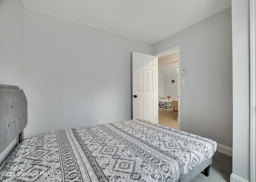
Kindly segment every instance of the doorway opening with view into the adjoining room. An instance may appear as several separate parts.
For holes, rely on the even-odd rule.
[[[158,124],[180,129],[180,46],[155,54]],[[170,99],[168,99],[168,96]]]

